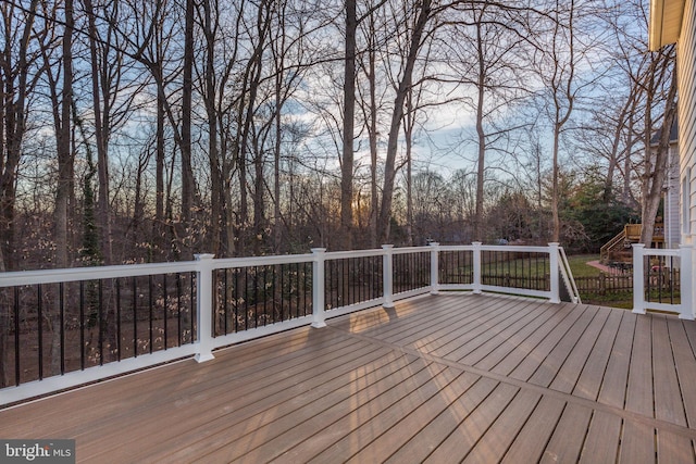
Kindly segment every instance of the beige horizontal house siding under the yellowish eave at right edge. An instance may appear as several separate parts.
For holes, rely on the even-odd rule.
[[[678,42],[678,78],[679,78],[679,140],[680,140],[680,177],[682,179],[681,198],[688,199],[687,208],[682,208],[684,243],[693,243],[692,234],[696,231],[696,9],[693,0],[687,0],[684,8],[682,33]],[[688,181],[685,181],[687,180]],[[684,205],[682,205],[684,206]],[[696,243],[694,243],[696,244]]]

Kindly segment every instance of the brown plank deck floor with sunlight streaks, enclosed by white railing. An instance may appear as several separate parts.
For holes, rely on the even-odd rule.
[[[695,462],[696,323],[443,294],[0,411],[79,462]]]

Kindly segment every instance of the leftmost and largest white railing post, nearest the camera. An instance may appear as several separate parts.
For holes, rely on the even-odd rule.
[[[197,327],[197,353],[196,361],[202,363],[214,359],[213,356],[213,258],[214,254],[195,254],[198,261],[198,289],[196,291]]]

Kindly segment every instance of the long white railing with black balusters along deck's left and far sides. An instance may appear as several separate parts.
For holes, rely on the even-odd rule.
[[[497,292],[544,298],[548,299],[550,302],[559,302],[559,275],[561,275],[559,266],[559,250],[558,243],[550,243],[548,247],[483,246],[477,242],[471,246],[445,247],[439,246],[438,243],[431,243],[427,247],[394,248],[391,246],[383,246],[381,249],[375,250],[340,252],[326,252],[324,249],[313,249],[312,253],[308,254],[262,258],[214,259],[211,254],[198,254],[196,255],[195,261],[177,263],[4,273],[0,275],[0,291],[12,294],[10,289],[14,288],[15,297],[13,300],[14,303],[10,303],[10,300],[5,299],[3,304],[13,304],[14,308],[5,306],[0,311],[5,311],[7,314],[10,315],[8,321],[14,319],[13,324],[11,324],[11,326],[14,327],[14,334],[12,334],[12,327],[5,327],[5,330],[9,330],[9,338],[14,337],[14,344],[12,344],[11,348],[14,350],[14,359],[16,360],[16,365],[14,367],[16,368],[17,377],[15,386],[0,389],[0,404],[22,401],[40,394],[104,379],[144,367],[154,366],[160,363],[182,358],[194,356],[199,362],[212,360],[214,358],[213,351],[220,347],[287,330],[294,327],[307,325],[318,328],[323,327],[325,326],[327,317],[335,317],[370,306],[382,305],[390,308],[394,305],[395,301],[399,299],[419,294],[437,294],[440,291],[470,291],[474,293]],[[359,288],[353,285],[355,283],[347,281],[350,279],[362,279],[359,274],[356,274],[360,271],[353,269],[352,275],[350,274],[351,266],[355,267],[356,263],[361,262],[358,260],[373,260],[371,268],[376,268],[376,271],[370,273],[370,279],[362,276],[365,277],[364,280],[366,284],[361,284],[362,287]],[[380,261],[381,264],[375,265],[375,263],[380,263]],[[331,267],[332,262],[334,263],[334,267]],[[283,309],[283,305],[285,303],[281,301],[279,305],[282,315],[277,322],[275,322],[275,318],[271,318],[271,323],[266,324],[266,319],[264,318],[263,324],[260,324],[259,321],[257,321],[253,327],[245,325],[241,330],[234,331],[232,334],[215,334],[216,330],[214,329],[214,326],[216,318],[223,316],[228,317],[226,309],[224,310],[224,315],[221,315],[223,312],[219,309],[221,303],[217,300],[224,299],[224,304],[232,301],[235,308],[238,303],[248,303],[247,301],[244,301],[246,297],[232,298],[227,296],[226,289],[224,290],[224,297],[220,297],[220,294],[222,294],[222,290],[219,281],[220,278],[216,277],[215,274],[216,272],[220,269],[251,268],[253,273],[258,274],[259,268],[263,266],[265,266],[263,268],[291,265],[310,266],[310,263],[311,284],[307,285],[311,285],[311,289],[302,290],[295,288],[304,285],[304,280],[300,280],[299,273],[295,273],[293,278],[296,278],[296,280],[291,285],[293,290],[288,291],[307,291],[308,296],[311,294],[311,314],[299,314],[298,310],[295,316],[291,315],[291,311],[288,311],[288,315],[284,316],[283,314],[285,314],[285,310]],[[182,335],[178,334],[177,346],[169,347],[165,341],[163,347],[158,350],[153,350],[153,316],[152,310],[150,309],[150,351],[146,353],[138,352],[137,344],[140,340],[138,340],[139,331],[137,328],[138,315],[137,304],[135,302],[137,297],[136,293],[149,291],[149,299],[152,301],[153,278],[161,277],[166,283],[167,275],[174,274],[177,275],[178,278],[178,275],[185,273],[195,276],[195,278],[187,280],[189,283],[187,285],[190,286],[189,304],[195,309],[195,315],[190,314],[194,317],[194,321],[191,321],[191,328],[189,330],[190,340],[188,342],[182,342]],[[283,288],[279,290],[275,289],[276,278],[285,278],[282,273],[283,267],[281,267],[281,274],[278,274],[277,277],[276,274],[273,274],[272,283],[268,283],[266,276],[263,277],[264,294],[266,292],[272,292],[274,294],[281,294],[281,299],[284,298],[283,294],[285,293],[283,293]],[[376,281],[375,278],[377,275],[381,277],[378,278],[380,281]],[[149,290],[135,288],[137,279],[142,278],[138,276],[147,276],[150,281]],[[60,375],[39,374],[37,379],[29,379],[28,381],[22,379],[22,381],[20,381],[20,363],[24,362],[22,356],[28,356],[29,353],[27,351],[30,350],[24,347],[24,344],[27,343],[26,340],[22,340],[22,337],[27,336],[21,335],[21,323],[24,324],[24,322],[18,321],[18,318],[32,313],[34,319],[38,321],[39,339],[44,341],[47,337],[46,334],[41,334],[40,328],[44,326],[42,319],[46,318],[46,315],[41,316],[40,308],[38,309],[38,315],[36,314],[35,309],[20,309],[18,304],[21,299],[16,297],[16,294],[18,294],[18,290],[16,289],[32,288],[32,286],[36,286],[39,289],[39,298],[36,300],[39,301],[38,304],[40,306],[41,286],[49,284],[61,286],[60,317],[61,321],[63,321],[64,315],[69,311],[63,308],[62,303],[62,301],[64,301],[62,296],[63,285],[67,285],[67,283],[101,281],[105,279],[122,278],[130,278],[132,280],[129,281],[133,281],[134,287],[133,323],[128,323],[134,325],[132,339],[133,344],[136,344],[134,351],[128,353],[128,355],[124,354],[123,356],[121,351],[119,351],[117,361],[113,362],[109,362],[110,360],[105,359],[108,356],[104,355],[104,352],[100,351],[98,353],[98,363],[100,365],[90,365],[85,367],[83,361],[82,368],[73,368],[72,371],[67,369],[67,372],[64,372],[66,369],[63,368]],[[335,284],[334,280],[338,284]],[[248,279],[245,280],[245,287],[249,285],[248,281]],[[346,288],[341,288],[341,283],[346,283],[346,286],[344,286]],[[164,286],[166,287],[166,284]],[[274,288],[270,288],[271,286]],[[287,286],[290,287],[289,284]],[[371,286],[371,288],[366,288],[365,286]],[[283,287],[282,283],[281,287]],[[380,288],[375,289],[372,287]],[[83,284],[80,284],[79,288],[79,298],[83,299]],[[363,291],[365,288],[371,291]],[[59,291],[57,290],[55,292],[58,293]],[[166,288],[164,288],[163,292],[164,303],[162,304],[165,308],[164,311],[167,311],[167,299],[175,300],[175,298],[169,296]],[[287,298],[289,299],[290,297]],[[298,296],[297,299],[299,302],[300,297]],[[307,299],[309,299],[309,297]],[[328,304],[327,299],[339,303],[337,305]],[[178,300],[181,303],[181,294],[178,296]],[[269,305],[277,304],[277,301],[269,299],[263,300],[263,306],[266,305],[266,301],[269,302]],[[80,302],[80,305],[82,304],[83,303]],[[119,311],[121,311],[120,302],[112,304],[119,306]],[[260,303],[257,303],[257,306]],[[307,304],[309,305],[309,303]],[[102,305],[101,300],[99,301],[99,305]],[[182,311],[181,308],[178,311]],[[254,311],[258,312],[259,308],[254,308]],[[194,313],[194,311],[190,311],[190,313]],[[268,314],[264,309],[263,316],[266,315]],[[85,330],[84,317],[85,316],[80,312],[80,321],[78,322],[78,325],[80,327],[79,330],[83,330],[82,337],[84,337]],[[104,317],[102,314],[99,314],[98,317],[100,350],[102,350],[101,331],[104,329],[101,328],[101,324],[102,321],[108,321],[108,317]],[[164,325],[166,326],[166,313],[164,313],[163,317]],[[181,324],[181,312],[178,317]],[[229,317],[239,317],[239,315],[235,314]],[[119,312],[119,317],[116,318],[117,324],[122,324],[121,318],[121,312]],[[61,324],[64,323],[61,322]],[[123,324],[125,325],[125,323]],[[65,328],[61,325],[60,338],[62,342],[64,342],[65,338],[63,330],[65,330]],[[164,328],[164,330],[166,330],[166,328]],[[119,334],[121,334],[121,328],[119,328]],[[32,334],[29,334],[29,336],[34,337]],[[39,344],[41,342],[39,342]],[[121,339],[119,339],[119,343],[121,343]],[[4,349],[5,347],[0,348]],[[109,348],[107,348],[107,350]],[[111,347],[111,349],[113,349],[113,347]],[[23,351],[21,352],[21,350]],[[61,347],[61,350],[64,350],[64,347]],[[80,346],[80,350],[85,350],[84,344]],[[121,350],[121,348],[119,348],[119,350]],[[33,352],[32,355],[36,355],[36,353]],[[80,352],[80,355],[84,355],[84,351]],[[40,359],[45,358],[41,350],[39,350],[38,358],[40,364]],[[64,362],[64,360],[61,360],[61,362]],[[12,383],[14,384],[14,381]]]

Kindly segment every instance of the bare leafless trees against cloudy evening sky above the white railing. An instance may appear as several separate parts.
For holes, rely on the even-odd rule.
[[[645,146],[675,117],[674,57],[647,52],[639,0],[0,0],[0,15],[2,271],[592,248],[577,204],[616,223],[659,208],[666,150]]]

